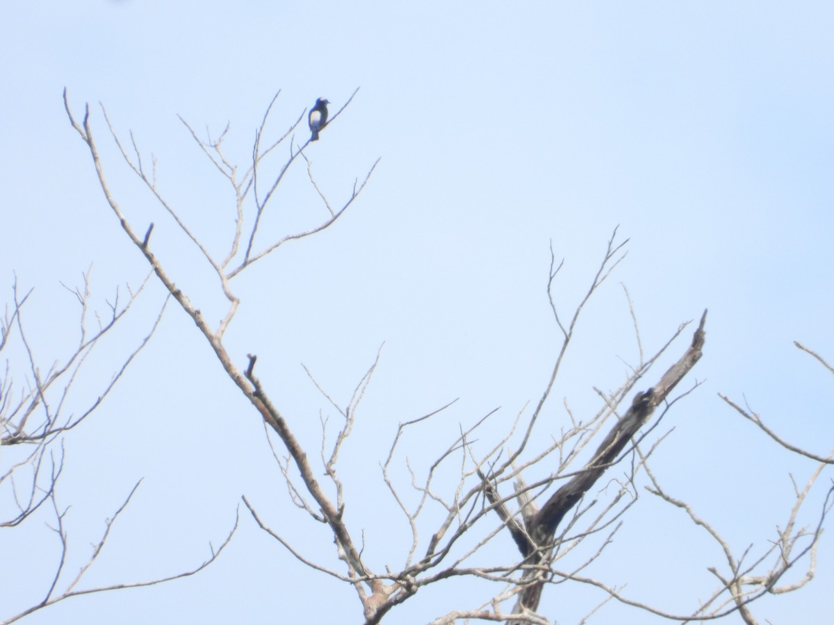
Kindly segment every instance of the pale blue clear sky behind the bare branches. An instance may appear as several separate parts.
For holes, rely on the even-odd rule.
[[[230,236],[234,198],[177,115],[214,136],[230,122],[228,156],[244,167],[279,89],[274,136],[316,97],[337,110],[361,87],[308,153],[334,203],[381,157],[369,187],[333,228],[240,278],[243,304],[227,341],[240,366],[259,354],[262,381],[313,456],[328,405],[301,363],[344,403],[385,343],[343,457],[347,518],[354,531],[367,528],[374,564],[397,564],[406,548],[379,478],[397,423],[460,398],[413,441],[418,465],[459,424],[500,407],[484,434],[498,437],[540,397],[555,357],[550,246],[565,258],[557,301],[567,313],[616,226],[631,239],[628,256],[580,324],[546,423],[567,423],[563,398],[595,412],[593,387],[618,387],[636,361],[619,283],[647,352],[709,308],[704,358],[687,381],[706,383],[664,420],[674,432],[654,468],[739,554],[750,543],[761,549],[786,522],[788,473],[802,483],[814,467],[742,423],[716,393],[746,398],[786,438],[830,451],[831,375],[792,342],[834,361],[832,32],[830,2],[3,2],[0,294],[11,298],[13,272],[35,288],[28,323],[48,366],[76,336],[77,305],[62,282],[77,286],[93,263],[94,300],[106,310],[118,284],[147,273],[68,124],[64,87],[76,112],[91,103],[114,191],[137,229],[157,223],[158,253],[218,317],[216,284],[124,171],[98,102],[118,133],[133,131],[155,154],[160,188],[188,223],[218,243]],[[304,168],[290,176],[269,232],[322,214],[305,179]],[[79,383],[79,409],[147,332],[162,298],[155,286],[143,295]],[[546,425],[539,434],[550,436]],[[113,397],[67,438],[68,570],[139,478],[90,583],[202,562],[242,494],[306,554],[339,567],[332,537],[290,504],[256,414],[174,308]],[[650,498],[641,494],[595,572],[627,584],[633,598],[691,611],[713,587],[706,568],[721,566],[721,552]],[[814,522],[820,505],[812,499],[802,522]],[[36,602],[58,543],[38,522],[28,534],[5,532],[3,552],[19,559],[3,557],[0,605]],[[822,541],[816,579],[754,607],[761,622],[830,614],[834,547]],[[514,548],[496,541],[496,557],[505,562]],[[42,567],[8,566],[36,559]],[[390,621],[427,622],[485,598],[455,592],[425,592]],[[603,598],[584,592],[551,588],[541,611],[577,622]],[[359,622],[348,587],[299,566],[242,512],[229,552],[206,572],[74,599],[27,622],[299,622],[311,597],[320,620],[305,622]],[[651,622],[613,604],[598,614]]]

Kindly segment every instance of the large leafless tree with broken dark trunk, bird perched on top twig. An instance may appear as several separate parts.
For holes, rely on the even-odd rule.
[[[328,126],[338,122],[354,95],[344,102]],[[304,150],[309,140],[302,143],[295,141],[294,133],[304,118],[303,112],[277,138],[267,138],[270,112],[277,97],[279,94],[270,102],[260,122],[251,159],[244,168],[233,163],[224,153],[224,138],[229,131],[228,127],[219,138],[202,138],[183,120],[183,125],[198,149],[210,159],[234,192],[234,226],[222,248],[213,248],[194,234],[196,228],[193,228],[193,224],[186,223],[181,212],[158,187],[155,160],[153,167],[148,169],[148,159],[140,153],[133,135],[130,143],[120,138],[102,107],[108,131],[124,163],[148,188],[158,207],[169,218],[169,223],[184,233],[216,276],[217,288],[227,302],[225,313],[216,324],[204,318],[200,304],[195,303],[193,296],[177,286],[177,277],[170,273],[157,253],[154,253],[154,223],[131,223],[113,196],[94,137],[89,107],[85,107],[83,117],[78,119],[71,111],[66,92],[64,104],[73,128],[88,148],[104,198],[114,217],[130,242],[143,255],[158,281],[188,314],[198,332],[214,350],[229,382],[239,388],[240,393],[252,404],[254,412],[267,429],[275,460],[289,488],[291,502],[309,515],[312,521],[329,527],[334,537],[334,558],[338,558],[339,562],[315,562],[306,557],[299,547],[291,544],[279,529],[274,528],[274,522],[265,519],[254,503],[244,497],[244,503],[254,521],[304,566],[313,567],[353,587],[359,597],[364,622],[369,625],[381,622],[389,611],[409,601],[423,587],[460,578],[482,581],[485,587],[490,588],[489,600],[475,607],[448,612],[438,617],[434,623],[467,619],[546,623],[549,621],[538,612],[542,592],[548,585],[563,582],[599,588],[602,593],[600,605],[613,600],[685,622],[714,619],[736,612],[746,622],[755,622],[750,612],[751,602],[767,592],[786,592],[804,583],[777,588],[776,582],[784,572],[802,562],[807,563],[806,577],[811,577],[813,556],[822,523],[831,505],[830,498],[826,498],[819,512],[816,529],[809,531],[797,528],[796,512],[819,477],[819,470],[811,477],[806,488],[797,489],[796,505],[791,509],[788,523],[776,542],[765,547],[761,553],[754,554],[748,549],[741,555],[731,553],[726,541],[686,502],[666,493],[660,480],[651,471],[651,455],[664,439],[664,436],[654,434],[658,423],[661,423],[672,407],[699,386],[695,382],[684,391],[677,390],[681,381],[696,366],[705,348],[706,311],[701,315],[691,340],[680,350],[677,360],[666,371],[654,373],[653,369],[661,362],[661,357],[677,349],[674,347],[677,345],[676,339],[684,334],[687,324],[682,324],[669,341],[654,349],[651,356],[644,358],[637,319],[626,292],[640,346],[640,361],[631,364],[629,375],[618,383],[615,391],[598,391],[600,407],[590,418],[576,418],[565,404],[570,425],[560,435],[549,438],[545,443],[534,436],[545,406],[552,403],[550,396],[585,304],[598,293],[625,256],[627,241],[618,240],[616,230],[607,244],[599,268],[590,280],[585,297],[567,317],[560,312],[560,298],[556,296],[556,281],[562,263],[556,263],[555,254],[551,251],[546,288],[554,323],[561,333],[561,346],[550,381],[538,403],[535,407],[520,411],[505,435],[487,444],[485,451],[481,449],[483,442],[478,447],[473,444],[475,433],[480,433],[479,428],[495,418],[495,411],[488,413],[469,427],[461,428],[460,435],[445,446],[445,451],[429,463],[425,472],[412,469],[405,460],[411,474],[411,483],[402,484],[393,477],[394,467],[401,467],[404,462],[399,451],[402,441],[415,428],[428,427],[432,418],[449,408],[450,404],[399,425],[389,453],[381,462],[382,480],[402,512],[401,521],[409,527],[411,541],[404,546],[404,562],[386,562],[382,569],[374,569],[364,557],[364,534],[349,527],[344,517],[345,489],[338,469],[339,452],[353,432],[359,404],[379,365],[379,355],[346,402],[332,398],[309,374],[324,400],[339,413],[341,419],[332,438],[328,436],[328,423],[323,421],[319,465],[319,461],[312,460],[314,456],[299,443],[290,424],[270,399],[269,381],[256,376],[258,355],[251,353],[247,362],[236,363],[224,343],[224,334],[233,323],[241,301],[234,279],[284,243],[309,238],[329,228],[359,198],[376,167],[376,163],[370,164],[361,183],[357,178],[353,188],[342,200],[331,201],[320,190],[314,178],[312,163],[305,156]],[[283,164],[270,171],[265,158],[270,153],[277,153],[279,148],[287,156]],[[322,202],[321,217],[312,219],[307,227],[299,231],[264,233],[262,217],[270,208],[274,210],[276,189],[289,169],[299,167],[302,162],[306,163],[309,183]],[[262,243],[264,238],[266,240]],[[650,379],[654,381],[651,386],[647,383]],[[822,463],[831,462],[831,457],[817,459]],[[600,496],[592,494],[592,489],[600,477],[614,467],[625,468],[625,479],[617,480],[616,493],[601,497],[603,501],[600,502]],[[324,477],[321,477],[322,468]],[[458,475],[451,482],[446,478],[449,468],[455,468],[454,473]],[[441,474],[444,477],[441,478]],[[620,588],[585,575],[585,569],[600,558],[605,547],[610,544],[611,538],[621,526],[622,517],[637,502],[641,480],[648,481],[650,493],[681,508],[696,527],[706,529],[726,553],[725,569],[722,572],[718,567],[713,569],[718,580],[716,591],[706,601],[698,602],[696,607],[682,608],[681,612],[666,612],[648,602],[627,597]],[[439,510],[442,520],[433,523],[431,519]],[[505,562],[493,562],[485,566],[481,560],[485,557],[486,547],[494,542],[495,537],[505,536],[506,533],[512,537],[518,553],[506,554]],[[565,556],[571,553],[574,557],[576,554],[584,554],[583,563],[580,566],[560,568],[560,562],[568,562]],[[773,555],[778,556],[775,562],[771,562]],[[598,607],[590,611],[589,617]]]

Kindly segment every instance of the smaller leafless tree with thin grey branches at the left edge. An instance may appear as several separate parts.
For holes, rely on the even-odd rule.
[[[67,569],[70,533],[64,521],[69,507],[61,502],[59,496],[59,483],[65,466],[63,437],[102,406],[130,363],[153,336],[162,319],[164,303],[148,334],[123,358],[113,377],[103,384],[94,398],[76,398],[76,383],[84,368],[93,360],[95,348],[107,340],[113,328],[128,314],[150,278],[148,274],[136,291],[128,287],[127,301],[122,300],[117,289],[104,316],[95,312],[91,305],[89,272],[83,275],[83,288],[67,288],[78,302],[78,341],[63,358],[56,358],[51,363],[47,360],[47,367],[41,364],[43,358],[36,355],[37,350],[29,338],[30,333],[43,332],[43,329],[33,329],[24,322],[26,304],[33,292],[22,293],[17,278],[13,283],[12,304],[0,320],[0,353],[7,356],[5,374],[0,381],[0,425],[3,428],[0,434],[0,448],[3,449],[0,458],[0,511],[3,514],[0,528],[14,532],[32,522],[44,522],[48,532],[55,537],[55,567],[43,575],[40,599],[18,612],[0,615],[0,622],[17,621],[69,597],[147,586],[191,575],[213,562],[231,538],[230,533],[207,561],[186,572],[147,582],[118,582],[107,586],[83,584],[85,574],[98,559],[111,530],[139,488],[142,482],[139,480],[104,523],[103,532],[93,545],[87,561],[78,572],[68,572]],[[54,328],[49,331],[54,332]],[[23,383],[16,384],[20,378],[23,378]],[[27,563],[19,562],[16,566],[23,572]]]

